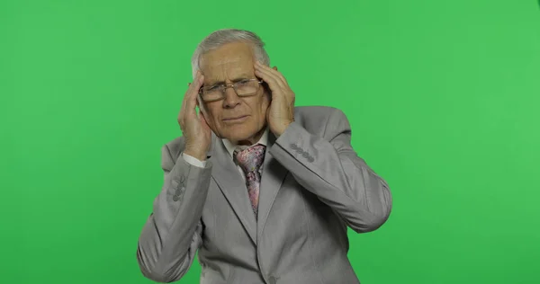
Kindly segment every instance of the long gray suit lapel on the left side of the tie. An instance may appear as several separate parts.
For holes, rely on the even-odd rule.
[[[254,244],[257,244],[257,220],[253,209],[251,209],[246,183],[240,176],[237,165],[229,155],[227,148],[213,133],[211,151],[208,155],[211,156],[211,161],[214,164],[211,172],[214,181],[229,201],[230,207],[246,229],[247,235]]]

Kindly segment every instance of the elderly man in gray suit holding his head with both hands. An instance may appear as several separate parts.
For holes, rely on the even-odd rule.
[[[294,107],[250,31],[211,33],[192,65],[183,136],[162,148],[165,181],[139,237],[142,273],[180,280],[198,251],[203,284],[359,283],[347,226],[382,226],[392,197],[345,114]]]

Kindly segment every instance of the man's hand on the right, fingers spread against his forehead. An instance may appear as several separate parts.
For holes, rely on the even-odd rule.
[[[280,137],[294,121],[294,93],[284,75],[277,67],[270,68],[258,61],[255,63],[255,75],[263,79],[272,92],[272,102],[266,111],[266,121],[270,131]]]

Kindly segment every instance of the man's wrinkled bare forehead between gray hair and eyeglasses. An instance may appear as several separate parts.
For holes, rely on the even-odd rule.
[[[243,42],[228,43],[204,54],[201,69],[205,77],[225,79],[229,75],[253,74],[253,49]]]

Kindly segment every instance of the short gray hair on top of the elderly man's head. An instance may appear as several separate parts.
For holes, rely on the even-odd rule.
[[[204,40],[202,40],[197,46],[197,49],[195,49],[192,58],[193,79],[200,68],[199,63],[202,55],[213,49],[219,49],[221,46],[227,43],[242,41],[252,46],[255,58],[258,61],[260,61],[263,65],[270,65],[270,58],[265,50],[265,42],[263,42],[263,40],[261,40],[261,38],[259,38],[255,32],[236,29],[223,29],[212,32],[210,35],[204,38]]]

